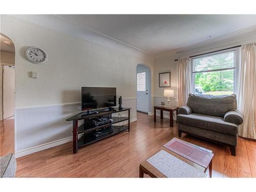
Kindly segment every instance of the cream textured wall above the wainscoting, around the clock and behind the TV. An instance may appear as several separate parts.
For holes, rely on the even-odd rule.
[[[136,97],[136,66],[153,68],[153,58],[138,58],[76,37],[2,15],[1,30],[14,42],[16,108],[80,102],[82,86],[117,87],[117,95]],[[25,58],[30,46],[44,49],[48,62]],[[37,79],[28,72],[36,71]]]

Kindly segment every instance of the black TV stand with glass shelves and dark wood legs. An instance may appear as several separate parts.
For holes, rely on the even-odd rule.
[[[92,113],[92,114],[87,114],[87,111],[82,111],[66,119],[66,121],[73,121],[73,153],[74,154],[77,153],[78,148],[80,147],[90,145],[102,139],[121,133],[125,130],[130,131],[130,110],[131,108],[123,108],[122,110],[119,110],[118,108],[114,108],[114,110],[112,111],[94,110],[94,112],[96,113]],[[128,116],[119,116],[119,115],[113,116],[113,114],[115,113],[121,113],[125,111],[128,112]],[[100,116],[110,118],[113,121],[110,123],[99,125],[99,126],[88,125],[86,123],[88,119],[91,119],[93,117],[100,117]],[[79,121],[83,122],[80,126],[78,126]],[[126,124],[124,124],[125,121],[127,121]],[[92,134],[93,132],[106,127],[111,127],[113,132],[106,134],[100,138],[96,138],[93,136]],[[81,136],[79,139],[78,139],[78,135],[79,137]]]

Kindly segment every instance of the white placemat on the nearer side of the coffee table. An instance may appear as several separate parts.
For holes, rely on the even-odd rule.
[[[161,150],[146,160],[168,178],[203,178],[207,175],[199,169]]]

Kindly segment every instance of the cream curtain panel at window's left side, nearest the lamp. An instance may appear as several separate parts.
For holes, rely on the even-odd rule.
[[[177,66],[178,104],[186,105],[188,94],[191,93],[191,63],[189,58],[180,59]]]

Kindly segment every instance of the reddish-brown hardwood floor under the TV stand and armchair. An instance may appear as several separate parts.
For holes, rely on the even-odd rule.
[[[70,142],[17,158],[17,177],[139,177],[139,163],[178,133],[176,123],[169,127],[168,119],[157,118],[154,123],[152,116],[143,113],[137,119],[130,133],[79,148],[77,154],[72,153]],[[1,127],[1,145],[2,139]],[[212,177],[256,177],[255,141],[239,138],[234,157],[228,147],[185,134],[182,139],[214,151]]]

